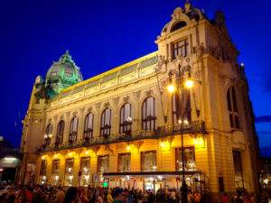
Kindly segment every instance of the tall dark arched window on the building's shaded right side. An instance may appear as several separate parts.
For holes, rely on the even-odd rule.
[[[235,93],[235,89],[233,87],[229,87],[229,89],[228,89],[227,101],[228,101],[230,127],[239,128],[236,93]]]

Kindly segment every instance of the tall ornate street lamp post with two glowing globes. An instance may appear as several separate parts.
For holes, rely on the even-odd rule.
[[[187,185],[185,182],[185,176],[184,176],[184,150],[183,150],[183,133],[182,133],[182,129],[183,129],[183,115],[182,115],[182,90],[183,90],[183,81],[182,81],[182,76],[184,74],[184,72],[188,72],[188,79],[185,81],[185,88],[192,88],[193,86],[193,81],[191,79],[191,66],[187,65],[185,67],[181,67],[181,65],[178,65],[178,71],[175,69],[172,69],[169,72],[169,77],[170,77],[170,84],[167,87],[167,90],[169,92],[174,92],[175,91],[175,87],[172,84],[171,78],[173,77],[173,75],[176,75],[176,77],[178,78],[177,81],[177,89],[179,91],[180,94],[180,103],[181,103],[181,108],[180,108],[180,119],[181,121],[179,121],[179,123],[181,124],[181,138],[182,138],[182,203],[188,203],[188,199],[187,199]]]

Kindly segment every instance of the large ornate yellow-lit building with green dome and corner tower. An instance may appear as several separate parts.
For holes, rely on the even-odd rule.
[[[215,16],[187,1],[157,37],[158,51],[94,78],[83,80],[69,52],[62,55],[33,86],[21,179],[180,189],[184,172],[211,202],[224,191],[257,191],[259,149],[244,65],[224,15]]]

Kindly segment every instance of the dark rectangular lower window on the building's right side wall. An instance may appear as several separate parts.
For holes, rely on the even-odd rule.
[[[243,169],[242,169],[242,159],[241,152],[233,150],[233,164],[235,171],[235,187],[237,189],[244,188],[244,180],[243,180]]]

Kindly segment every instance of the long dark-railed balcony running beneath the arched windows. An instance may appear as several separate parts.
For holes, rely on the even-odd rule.
[[[45,147],[38,147],[36,152],[51,152],[79,147],[95,146],[107,143],[130,142],[142,139],[158,139],[159,137],[177,134],[206,134],[205,123],[203,121],[193,121],[189,125],[164,125],[156,130],[138,130],[126,132],[126,134],[110,134],[108,136],[92,137],[86,140],[74,141],[72,143],[51,144]]]

